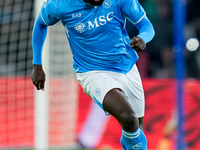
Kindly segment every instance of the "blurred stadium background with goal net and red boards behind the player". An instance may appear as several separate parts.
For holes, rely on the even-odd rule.
[[[177,149],[176,67],[173,0],[139,0],[156,36],[137,62],[146,96],[144,132],[151,150]],[[31,36],[36,0],[0,0],[0,149],[121,149],[120,126],[94,112],[93,101],[76,82],[72,56],[61,23],[50,27],[45,43],[45,92],[35,91]],[[200,1],[186,1],[185,42],[200,39]],[[127,22],[132,37],[137,30]],[[187,150],[200,149],[200,51],[184,48],[184,122]],[[94,120],[93,120],[94,119]],[[98,132],[99,120],[102,132]],[[88,134],[87,125],[91,128]],[[94,131],[94,132],[93,132]],[[98,134],[97,134],[98,133]],[[177,149],[178,150],[178,149]]]

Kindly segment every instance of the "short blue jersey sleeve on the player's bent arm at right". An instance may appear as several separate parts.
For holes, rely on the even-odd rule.
[[[118,4],[122,13],[133,24],[137,24],[146,16],[146,12],[138,0],[118,0]]]

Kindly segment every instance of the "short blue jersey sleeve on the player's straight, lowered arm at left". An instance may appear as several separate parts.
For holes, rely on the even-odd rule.
[[[40,15],[46,25],[53,25],[60,20],[57,0],[47,0],[43,3]]]

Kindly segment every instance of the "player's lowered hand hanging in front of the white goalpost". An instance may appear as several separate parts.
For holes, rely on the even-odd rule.
[[[42,65],[34,65],[31,79],[37,90],[44,91],[44,83],[45,83],[45,73],[42,69]]]

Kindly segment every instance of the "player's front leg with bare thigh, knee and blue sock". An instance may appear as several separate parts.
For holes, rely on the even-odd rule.
[[[104,97],[103,108],[114,116],[122,126],[123,132],[120,142],[123,150],[147,150],[146,137],[140,129],[138,118],[122,90],[110,90]]]

